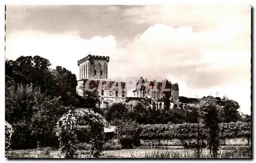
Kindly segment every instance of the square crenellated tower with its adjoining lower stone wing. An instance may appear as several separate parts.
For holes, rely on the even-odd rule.
[[[104,108],[109,103],[125,102],[127,97],[126,83],[108,79],[108,63],[110,57],[88,55],[78,61],[80,69],[77,91],[82,91],[88,84],[94,83],[100,96],[100,107]]]

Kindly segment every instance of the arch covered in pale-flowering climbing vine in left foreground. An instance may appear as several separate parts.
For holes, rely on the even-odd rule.
[[[103,117],[91,110],[81,110],[70,107],[57,123],[56,135],[59,138],[59,149],[65,157],[73,157],[76,151],[79,122],[86,122],[90,127],[91,134],[91,154],[99,157],[104,144],[104,127],[107,125]]]

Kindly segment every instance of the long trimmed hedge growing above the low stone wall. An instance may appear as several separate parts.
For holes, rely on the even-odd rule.
[[[220,138],[250,136],[251,124],[231,122],[219,124]],[[204,129],[202,129],[205,136]],[[138,128],[139,138],[190,138],[197,137],[197,124],[147,124]]]

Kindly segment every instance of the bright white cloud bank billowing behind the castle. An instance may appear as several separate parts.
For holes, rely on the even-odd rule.
[[[149,16],[142,15],[147,22],[153,22],[156,18],[167,21],[170,17],[172,20],[167,22],[181,22],[185,18],[190,21],[184,14],[191,14],[190,22],[197,22],[199,19],[196,16],[200,15],[203,26],[210,27],[208,24],[213,19],[217,27],[195,32],[195,26],[189,24],[179,28],[168,23],[154,24],[122,49],[114,36],[97,36],[86,40],[76,33],[54,35],[20,32],[7,37],[6,57],[16,59],[20,55],[39,55],[49,59],[54,66],[68,68],[78,77],[77,60],[87,56],[90,51],[92,55],[111,57],[111,79],[125,81],[133,77],[138,80],[140,76],[149,80],[167,78],[179,83],[180,96],[201,97],[210,92],[215,95],[219,91],[220,96],[226,95],[238,101],[241,111],[250,113],[250,17],[232,15],[236,13],[234,11],[242,9],[234,8],[223,16],[221,8],[221,14],[208,21],[206,18],[214,15],[213,10],[204,10],[205,15],[196,10],[186,13],[174,8],[162,10],[146,7],[145,10],[150,11]],[[189,11],[189,7],[185,11]],[[247,12],[245,9],[242,11]],[[130,14],[136,20],[138,13],[133,9],[124,14]],[[174,19],[173,13],[178,15],[177,18]],[[219,19],[220,15],[222,19]]]

